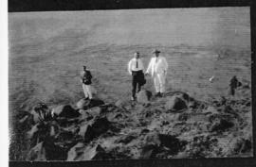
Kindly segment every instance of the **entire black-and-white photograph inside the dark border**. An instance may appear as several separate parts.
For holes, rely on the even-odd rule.
[[[9,160],[253,157],[249,7],[8,17]]]

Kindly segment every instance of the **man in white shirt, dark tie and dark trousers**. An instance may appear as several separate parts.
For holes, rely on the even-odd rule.
[[[141,86],[144,84],[144,65],[142,60],[139,58],[139,53],[135,53],[135,58],[132,58],[128,63],[128,72],[133,76],[133,89],[132,89],[132,100],[136,99],[136,92],[139,92]]]

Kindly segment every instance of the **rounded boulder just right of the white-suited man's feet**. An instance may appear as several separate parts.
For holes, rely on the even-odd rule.
[[[168,97],[167,102],[165,104],[165,109],[167,110],[174,110],[174,111],[178,111],[181,109],[187,109],[187,104],[186,102],[178,97],[178,96],[172,96],[172,97]]]

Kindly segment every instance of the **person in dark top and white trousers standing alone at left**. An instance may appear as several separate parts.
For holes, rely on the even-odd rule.
[[[81,72],[81,82],[82,82],[82,90],[84,92],[85,99],[92,99],[92,92],[91,92],[92,75],[91,75],[91,72],[86,69],[86,66],[83,66],[83,71]]]

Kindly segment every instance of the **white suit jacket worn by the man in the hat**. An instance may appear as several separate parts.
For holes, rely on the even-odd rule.
[[[146,73],[150,73],[151,75],[154,74],[162,74],[162,73],[167,73],[168,70],[168,63],[166,61],[166,58],[164,57],[154,57],[151,58],[148,69],[146,71]]]

